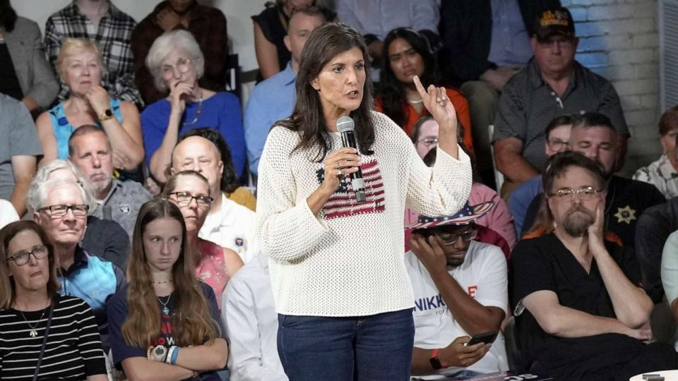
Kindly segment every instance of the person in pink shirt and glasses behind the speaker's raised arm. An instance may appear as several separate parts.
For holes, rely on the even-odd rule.
[[[415,128],[412,130],[412,143],[414,143],[417,153],[424,160],[424,164],[429,167],[433,167],[436,162],[437,151],[435,148],[438,146],[439,128],[438,122],[431,116],[426,115],[415,123]],[[460,147],[464,150],[466,148],[463,143],[460,143]],[[513,227],[513,217],[511,217],[509,207],[492,188],[475,181],[477,179],[475,156],[468,150],[465,150],[465,152],[471,158],[471,169],[474,177],[468,202],[473,205],[492,202],[492,209],[476,221],[477,225],[482,226],[478,232],[477,241],[499,246],[504,251],[506,258],[510,258],[511,248],[516,246],[516,229]],[[416,212],[409,208],[405,209],[405,225],[413,224],[417,222],[417,219],[418,214]],[[410,249],[410,232],[410,230],[405,230],[405,250]]]

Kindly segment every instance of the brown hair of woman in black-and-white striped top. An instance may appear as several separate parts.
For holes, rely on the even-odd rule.
[[[9,277],[8,248],[9,242],[22,231],[30,230],[35,232],[40,241],[47,248],[47,258],[49,258],[49,280],[47,281],[47,296],[50,298],[57,295],[59,291],[59,281],[57,280],[57,261],[54,260],[54,246],[49,241],[49,236],[42,226],[33,221],[17,221],[6,225],[0,229],[0,309],[10,308],[16,298],[16,286]]]

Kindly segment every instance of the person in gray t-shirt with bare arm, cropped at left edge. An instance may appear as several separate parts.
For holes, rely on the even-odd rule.
[[[0,198],[9,200],[21,216],[42,150],[24,104],[0,94],[0,115]]]

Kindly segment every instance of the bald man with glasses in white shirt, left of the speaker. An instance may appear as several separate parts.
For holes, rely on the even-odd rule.
[[[191,135],[194,131],[196,135]],[[228,151],[221,135],[206,128],[196,128],[186,133],[174,147],[169,171],[177,174],[193,169],[205,176],[210,195],[214,197],[198,236],[233,250],[243,262],[249,262],[258,253],[254,244],[256,215],[228,198],[227,193],[237,186],[237,179],[232,165],[228,164],[230,155],[225,156],[224,152]]]

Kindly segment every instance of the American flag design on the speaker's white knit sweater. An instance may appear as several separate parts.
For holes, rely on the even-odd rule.
[[[323,214],[325,219],[348,217],[355,214],[382,213],[386,210],[383,198],[383,178],[379,170],[379,163],[375,159],[363,162],[360,166],[362,179],[365,181],[365,202],[357,203],[351,185],[350,176],[344,176],[339,188],[332,197],[325,202]],[[321,167],[316,171],[318,183],[325,181],[325,171]]]

